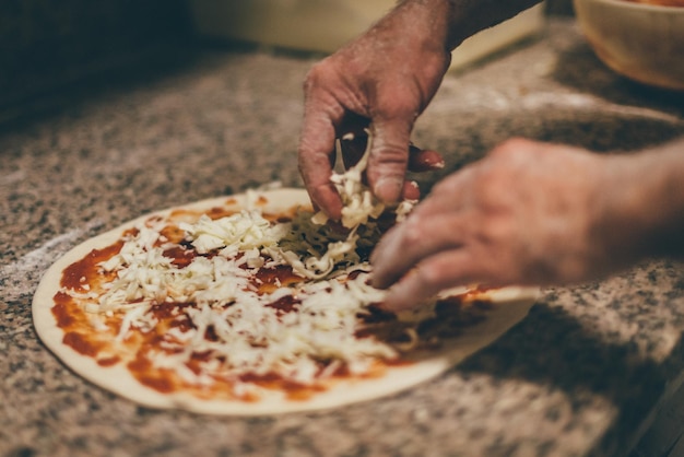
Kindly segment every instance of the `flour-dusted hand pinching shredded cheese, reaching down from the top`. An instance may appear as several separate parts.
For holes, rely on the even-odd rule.
[[[366,178],[373,192],[386,203],[410,197],[404,180],[411,130],[450,60],[447,22],[439,17],[434,8],[402,3],[308,73],[299,169],[314,204],[330,218],[338,220],[342,208],[330,183],[335,139],[366,128],[372,133]],[[342,152],[353,156],[349,145],[343,143]]]

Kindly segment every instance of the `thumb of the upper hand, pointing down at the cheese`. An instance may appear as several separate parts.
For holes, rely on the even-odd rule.
[[[385,203],[397,202],[403,191],[413,122],[374,120],[366,176],[373,194]]]

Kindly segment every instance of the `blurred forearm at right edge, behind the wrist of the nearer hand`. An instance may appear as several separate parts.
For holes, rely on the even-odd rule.
[[[684,139],[635,155],[608,157],[599,226],[625,260],[684,258]]]

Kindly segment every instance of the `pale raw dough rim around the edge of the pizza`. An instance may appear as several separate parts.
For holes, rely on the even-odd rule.
[[[292,207],[310,208],[308,195],[303,189],[278,189],[260,192],[268,200],[264,211],[284,211]],[[71,263],[82,259],[92,249],[103,248],[115,243],[121,233],[151,215],[167,215],[173,210],[204,210],[224,206],[235,200],[238,206],[247,202],[247,195],[220,197],[196,203],[175,207],[146,214],[130,221],[107,233],[87,239],[74,247],[44,274],[33,300],[33,319],[36,331],[45,345],[68,367],[93,384],[132,400],[139,405],[160,409],[182,409],[204,414],[223,415],[263,415],[295,411],[311,411],[341,407],[358,401],[389,396],[446,372],[469,355],[488,345],[515,324],[521,320],[534,304],[539,289],[505,288],[483,293],[483,298],[496,304],[483,321],[464,328],[455,339],[444,344],[438,351],[412,358],[406,365],[389,366],[386,374],[377,378],[335,379],[326,390],[317,392],[310,399],[287,399],[283,392],[267,391],[258,401],[201,399],[187,392],[163,394],[140,384],[123,365],[102,366],[93,358],[85,356],[64,344],[63,330],[58,327],[51,313],[52,297],[60,289],[62,271]]]

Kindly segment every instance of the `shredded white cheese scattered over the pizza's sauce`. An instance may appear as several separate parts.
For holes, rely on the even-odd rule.
[[[146,332],[158,324],[154,306],[187,304],[175,312],[192,325],[164,335],[153,365],[172,368],[194,385],[225,376],[234,379],[236,392],[245,388],[239,378],[246,374],[278,374],[310,385],[342,365],[363,374],[374,361],[396,358],[386,342],[357,337],[358,316],[384,298],[382,291],[369,285],[370,267],[358,255],[364,243],[368,247],[379,237],[375,219],[385,210],[362,183],[366,162],[367,153],[357,166],[332,178],[349,233],[321,225],[320,215],[308,212],[290,222],[270,222],[258,206],[248,204],[229,216],[180,223],[185,242],[199,255],[178,267],[164,256],[178,246],[162,235],[169,222],[145,221],[127,235],[119,254],[99,266],[116,279],[86,310],[95,316],[121,313],[117,338],[123,341],[131,330]],[[402,208],[405,213],[410,206]],[[302,281],[258,293],[255,273],[278,266],[292,267]],[[296,298],[296,312],[269,306],[290,297]],[[210,327],[215,337],[208,339]],[[193,353],[210,354],[199,373],[188,367]]]

